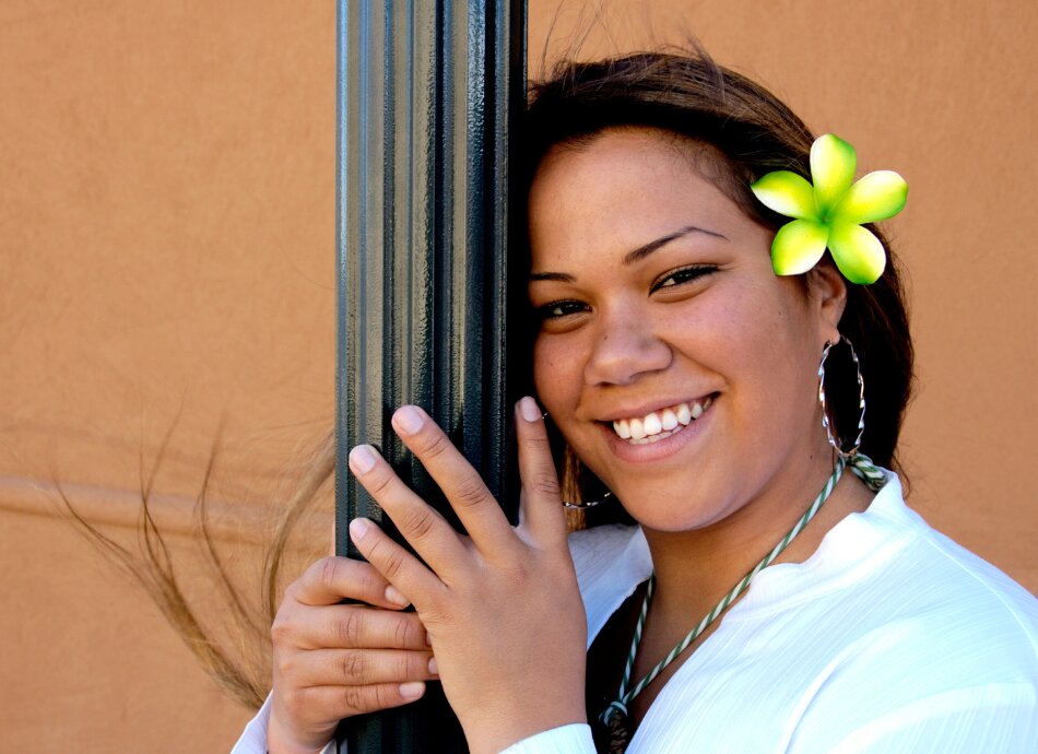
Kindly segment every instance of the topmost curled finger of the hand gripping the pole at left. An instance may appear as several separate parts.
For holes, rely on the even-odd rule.
[[[400,610],[408,600],[367,563],[346,557],[323,557],[290,587],[291,597],[310,605],[337,604],[343,600],[367,602]],[[287,596],[287,594],[286,594]]]

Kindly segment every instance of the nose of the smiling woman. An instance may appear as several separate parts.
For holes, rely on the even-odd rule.
[[[640,375],[670,366],[670,345],[641,317],[618,316],[602,321],[583,369],[588,385],[629,385]]]

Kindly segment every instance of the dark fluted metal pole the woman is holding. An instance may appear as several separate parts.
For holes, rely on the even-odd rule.
[[[521,0],[340,0],[337,550],[382,520],[346,471],[358,443],[446,506],[389,425],[422,405],[506,506],[517,387],[506,381],[509,129],[526,89]],[[512,275],[514,284],[518,275]],[[515,294],[512,294],[515,295]],[[511,516],[515,510],[508,511]],[[388,521],[386,521],[388,527]],[[467,751],[432,684],[414,705],[347,720],[350,754]]]

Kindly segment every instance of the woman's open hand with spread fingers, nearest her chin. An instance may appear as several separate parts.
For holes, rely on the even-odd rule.
[[[469,537],[401,482],[369,446],[350,469],[425,561],[366,519],[359,551],[414,603],[444,691],[475,754],[583,722],[587,621],[547,436],[533,399],[517,416],[522,476],[512,528],[475,470],[425,412],[404,407],[393,427],[450,500]]]

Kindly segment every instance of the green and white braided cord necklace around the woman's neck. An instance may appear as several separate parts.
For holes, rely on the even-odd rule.
[[[677,645],[671,649],[671,651],[664,657],[660,662],[650,670],[644,679],[641,679],[634,688],[628,691],[627,686],[630,683],[630,673],[635,665],[635,658],[638,656],[638,644],[641,641],[641,632],[645,628],[645,621],[649,614],[649,603],[652,601],[653,587],[656,585],[656,573],[649,577],[649,585],[646,588],[645,600],[641,603],[641,612],[638,614],[638,624],[635,626],[635,635],[630,641],[630,651],[627,652],[627,663],[624,667],[624,678],[620,684],[620,692],[616,695],[616,698],[610,703],[610,705],[602,711],[599,716],[599,719],[605,723],[611,732],[611,751],[624,751],[627,745],[627,705],[630,704],[638,694],[645,691],[656,678],[663,672],[663,669],[667,668],[671,662],[673,662],[679,655],[681,655],[685,649],[688,648],[693,641],[696,640],[698,636],[706,631],[711,623],[713,623],[717,617],[723,613],[732,602],[734,602],[739,597],[746,591],[746,588],[750,586],[750,581],[756,576],[760,570],[771,565],[786,547],[789,546],[789,543],[793,541],[793,538],[799,534],[807,522],[814,518],[814,515],[818,513],[818,509],[822,507],[822,504],[828,499],[833,490],[836,487],[837,482],[840,481],[840,476],[844,473],[844,468],[847,466],[848,460],[851,464],[851,471],[859,476],[865,484],[869,485],[873,492],[877,491],[883,486],[886,481],[886,475],[880,470],[872,460],[862,453],[856,453],[849,459],[840,456],[836,461],[836,467],[833,469],[833,474],[826,481],[825,486],[822,488],[822,492],[818,493],[814,502],[807,508],[807,511],[793,525],[793,528],[783,537],[778,544],[764,556],[757,565],[755,565],[750,573],[747,573],[743,578],[736,584],[728,594],[726,594],[720,602],[711,610],[707,615],[699,622],[699,624],[693,628]]]

